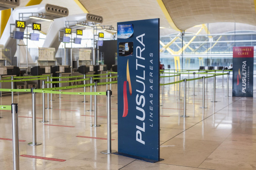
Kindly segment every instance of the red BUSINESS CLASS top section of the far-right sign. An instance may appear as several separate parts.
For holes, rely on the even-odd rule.
[[[253,58],[253,47],[233,47],[233,57],[252,57]]]

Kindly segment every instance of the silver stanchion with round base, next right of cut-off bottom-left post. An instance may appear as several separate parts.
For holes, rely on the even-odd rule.
[[[33,121],[33,140],[28,143],[29,146],[35,146],[42,144],[41,142],[36,142],[36,93],[34,92],[35,87],[31,89],[32,92],[32,121]]]

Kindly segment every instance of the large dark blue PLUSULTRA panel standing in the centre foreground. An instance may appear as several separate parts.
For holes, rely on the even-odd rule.
[[[117,23],[118,152],[149,162],[159,158],[159,19]],[[129,32],[131,33],[131,32]]]

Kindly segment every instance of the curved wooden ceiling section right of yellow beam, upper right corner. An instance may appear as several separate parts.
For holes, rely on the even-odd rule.
[[[174,24],[180,30],[214,22],[238,22],[256,26],[254,0],[162,1]]]

